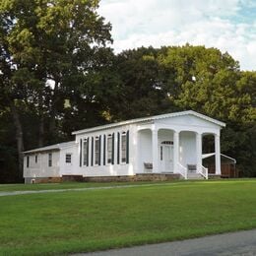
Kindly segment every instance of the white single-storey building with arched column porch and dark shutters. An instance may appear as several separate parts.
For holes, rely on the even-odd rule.
[[[24,153],[25,182],[142,173],[207,179],[202,138],[215,138],[215,152],[210,155],[215,155],[215,174],[220,175],[220,133],[224,126],[219,120],[189,110],[75,131],[73,142]]]

